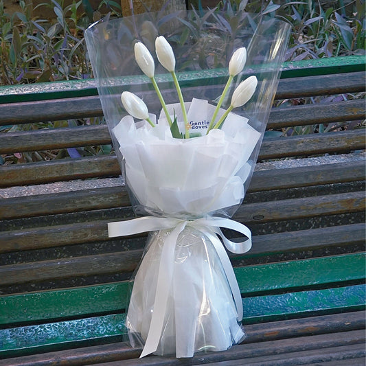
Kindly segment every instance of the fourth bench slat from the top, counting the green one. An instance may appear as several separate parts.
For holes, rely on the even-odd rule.
[[[278,159],[281,157],[300,157],[330,152],[350,152],[365,148],[363,130],[350,130],[317,135],[279,137],[264,139],[258,159]],[[19,174],[19,169],[22,173]],[[100,156],[62,161],[41,161],[38,163],[8,165],[0,170],[0,187],[11,185],[50,183],[87,179],[120,174],[117,158]]]

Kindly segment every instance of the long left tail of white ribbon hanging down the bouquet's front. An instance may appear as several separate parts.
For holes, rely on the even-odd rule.
[[[150,321],[150,328],[146,338],[144,350],[140,358],[151,354],[157,350],[163,330],[165,312],[168,303],[168,295],[174,271],[174,252],[176,240],[179,233],[185,228],[186,222],[179,223],[165,239],[159,264],[159,274],[157,279],[157,290],[155,293],[154,308]]]

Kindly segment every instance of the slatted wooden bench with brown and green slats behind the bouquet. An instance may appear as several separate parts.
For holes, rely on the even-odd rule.
[[[276,99],[362,93],[364,69],[362,56],[286,63]],[[339,99],[273,108],[268,130],[365,118],[365,100]],[[1,87],[0,101],[0,126],[27,124],[1,133],[3,156],[111,144],[104,124],[30,127],[101,116],[93,80]],[[146,235],[108,239],[107,222],[134,217],[115,156],[1,166],[0,364],[363,365],[365,130],[268,136],[233,217],[253,233],[249,253],[230,254],[247,339],[181,360],[139,359],[126,342]]]

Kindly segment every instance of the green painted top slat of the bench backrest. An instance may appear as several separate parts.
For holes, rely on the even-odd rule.
[[[319,76],[364,70],[364,56],[321,58],[319,60],[285,62],[282,67],[282,78]],[[225,71],[222,71],[222,74],[225,75]],[[186,76],[186,78],[190,78],[190,76]],[[129,82],[130,80],[126,78],[126,84]],[[89,95],[98,95],[95,82],[90,79],[59,81],[52,84],[45,82],[0,87],[0,98],[3,103],[49,100],[50,98],[74,98]]]

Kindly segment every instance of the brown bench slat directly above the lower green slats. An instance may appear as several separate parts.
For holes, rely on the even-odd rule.
[[[286,251],[300,251],[319,249],[319,247],[347,246],[355,243],[365,242],[365,231],[363,224],[345,225],[345,227],[322,228],[303,230],[295,233],[277,233],[273,236],[254,236],[253,251],[248,258],[255,255],[268,255]],[[328,237],[327,237],[328,235]],[[325,237],[324,237],[325,236]],[[332,238],[332,240],[330,240]],[[273,240],[273,241],[271,241]],[[63,279],[77,277],[78,275],[101,275],[120,273],[129,269],[135,270],[141,255],[142,249],[133,251],[105,253],[89,257],[63,258],[58,260],[47,260],[23,264],[12,264],[1,266],[0,284],[22,284],[52,279]],[[230,254],[231,260],[242,258],[242,255]],[[91,265],[90,263],[93,263]],[[122,265],[124,264],[124,265]]]

